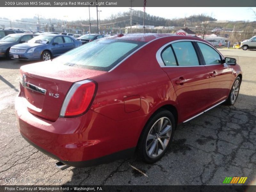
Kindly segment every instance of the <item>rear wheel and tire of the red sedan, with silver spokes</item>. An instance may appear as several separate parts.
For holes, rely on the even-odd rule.
[[[138,155],[145,163],[161,159],[172,142],[175,130],[174,116],[170,111],[160,110],[148,120],[138,142]]]

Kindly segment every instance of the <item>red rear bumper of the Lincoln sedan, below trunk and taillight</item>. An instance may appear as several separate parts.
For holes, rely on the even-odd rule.
[[[136,134],[125,138],[123,132],[116,131],[126,122],[118,123],[92,110],[80,117],[58,118],[52,122],[29,113],[23,99],[20,96],[15,99],[21,135],[38,150],[64,164],[92,166],[134,153]]]

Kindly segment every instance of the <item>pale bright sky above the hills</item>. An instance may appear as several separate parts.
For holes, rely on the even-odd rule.
[[[251,7],[256,11],[256,7]],[[255,21],[256,16],[250,7],[146,7],[150,15],[164,17],[166,19],[184,18],[194,14],[212,15],[217,20],[244,20]],[[133,7],[143,11],[143,7]],[[1,8],[0,18],[11,20],[21,18],[33,18],[36,14],[44,18],[56,18],[60,20],[87,20],[89,19],[88,7],[5,7]],[[100,7],[100,19],[107,19],[111,14],[127,12],[129,7]],[[96,7],[90,7],[91,19],[97,18]]]

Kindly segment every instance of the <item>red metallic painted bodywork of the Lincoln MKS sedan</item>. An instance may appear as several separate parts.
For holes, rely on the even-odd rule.
[[[226,99],[235,74],[241,74],[238,65],[227,68],[223,65],[159,66],[156,52],[164,44],[179,39],[200,40],[198,38],[166,34],[113,38],[145,42],[158,39],[109,72],[64,65],[57,68],[51,66],[51,61],[21,67],[20,72],[27,76],[28,82],[47,92],[42,95],[20,86],[20,94],[15,100],[20,132],[63,163],[92,160],[136,147],[144,125],[159,108],[168,105],[175,108],[177,123],[181,123],[218,100]],[[233,73],[230,68],[234,68]],[[210,77],[214,70],[218,75]],[[74,82],[88,78],[98,84],[88,112],[75,118],[59,117],[68,89]],[[188,81],[176,84],[180,78]],[[49,92],[60,94],[60,97],[53,98]]]

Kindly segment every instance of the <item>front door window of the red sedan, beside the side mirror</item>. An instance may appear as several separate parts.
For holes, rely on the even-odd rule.
[[[220,64],[220,54],[212,47],[204,43],[197,43],[204,57],[205,65]]]

